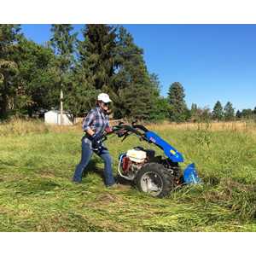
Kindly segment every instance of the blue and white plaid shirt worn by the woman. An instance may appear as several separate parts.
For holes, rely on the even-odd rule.
[[[96,107],[91,109],[84,119],[83,130],[87,131],[91,129],[96,133],[103,133],[103,131],[105,131],[106,128],[109,128],[108,115],[103,113],[101,108]],[[87,137],[85,137],[84,142],[90,143],[90,140]]]

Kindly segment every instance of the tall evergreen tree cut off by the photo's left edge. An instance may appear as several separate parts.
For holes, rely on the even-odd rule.
[[[0,24],[0,119],[13,108],[18,73],[15,51],[20,40],[20,26]]]

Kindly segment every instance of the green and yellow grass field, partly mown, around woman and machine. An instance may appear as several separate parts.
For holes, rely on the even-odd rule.
[[[130,186],[105,189],[97,156],[81,184],[79,126],[13,121],[0,125],[1,231],[256,231],[256,125],[151,125],[195,162],[202,185],[155,199]],[[108,140],[119,153],[136,137]],[[143,143],[143,146],[148,147]]]

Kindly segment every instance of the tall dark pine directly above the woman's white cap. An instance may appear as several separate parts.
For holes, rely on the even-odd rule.
[[[79,62],[84,79],[96,90],[108,90],[114,72],[113,54],[116,32],[113,26],[89,24],[84,27],[84,41],[79,42]]]

